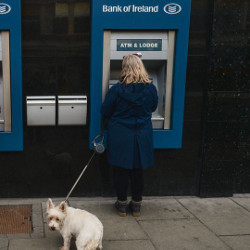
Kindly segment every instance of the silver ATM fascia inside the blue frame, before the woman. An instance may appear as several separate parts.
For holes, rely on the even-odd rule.
[[[156,46],[160,46],[157,50],[155,48],[137,50],[132,48],[122,48],[119,50],[122,42],[126,44],[133,43],[154,43],[160,41]],[[154,44],[153,44],[154,45]],[[145,31],[104,31],[104,56],[103,56],[103,97],[110,87],[118,82],[119,74],[122,67],[122,59],[124,55],[133,54],[136,52],[142,53],[142,60],[147,69],[149,76],[153,80],[153,84],[158,91],[158,107],[152,114],[152,123],[154,129],[171,129],[171,107],[168,107],[168,112],[165,110],[166,98],[168,105],[171,106],[172,87],[167,87],[168,75],[168,50],[169,50],[169,32],[145,32]],[[174,48],[172,48],[174,49]],[[172,62],[173,63],[173,60]],[[106,72],[105,72],[106,71]],[[172,84],[172,79],[169,80]],[[107,86],[109,84],[109,86]],[[167,92],[168,89],[168,92]],[[170,99],[170,100],[169,100]]]

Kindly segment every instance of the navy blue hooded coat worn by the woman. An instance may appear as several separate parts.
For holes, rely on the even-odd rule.
[[[147,168],[154,163],[151,116],[158,104],[153,84],[117,83],[101,108],[107,126],[107,157],[113,166]]]

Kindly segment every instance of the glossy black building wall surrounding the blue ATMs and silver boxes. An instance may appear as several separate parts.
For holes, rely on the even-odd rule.
[[[89,0],[22,0],[21,152],[0,153],[1,197],[66,196],[91,156],[89,126],[27,126],[26,97],[90,92]],[[145,195],[250,192],[250,3],[192,0],[183,143],[155,150]],[[88,117],[89,120],[89,117]],[[113,196],[98,155],[72,196]]]

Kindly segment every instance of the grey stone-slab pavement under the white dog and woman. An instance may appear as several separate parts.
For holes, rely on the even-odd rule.
[[[54,250],[62,237],[46,225],[47,199],[0,199],[32,205],[31,234],[0,234],[0,250]],[[63,199],[53,199],[59,203]],[[70,198],[104,225],[103,250],[250,249],[250,195],[230,198],[145,197],[141,217],[119,217],[114,198]],[[76,249],[72,241],[71,249]]]

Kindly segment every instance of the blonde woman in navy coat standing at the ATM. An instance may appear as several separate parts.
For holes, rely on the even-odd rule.
[[[151,116],[158,104],[138,55],[123,58],[119,81],[107,93],[101,112],[108,119],[107,157],[114,170],[115,208],[126,216],[128,181],[131,181],[133,216],[140,216],[143,170],[153,165]]]

